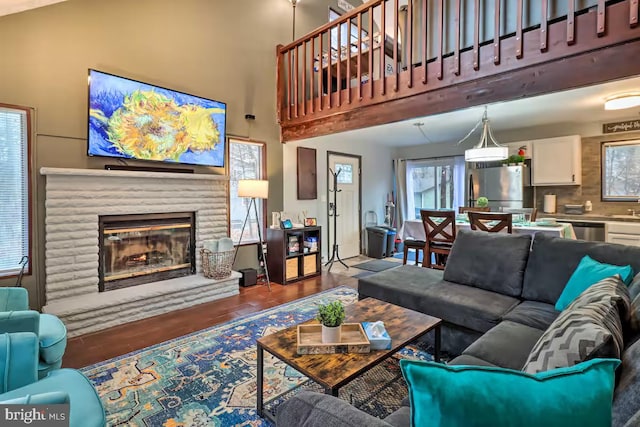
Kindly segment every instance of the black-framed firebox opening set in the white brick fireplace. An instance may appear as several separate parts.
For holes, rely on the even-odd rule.
[[[100,292],[195,274],[195,213],[100,216]]]

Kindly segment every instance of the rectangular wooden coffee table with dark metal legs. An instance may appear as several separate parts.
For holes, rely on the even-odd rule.
[[[371,353],[335,353],[299,355],[296,348],[297,325],[258,339],[258,416],[275,422],[264,408],[263,368],[264,351],[320,384],[325,393],[338,395],[340,387],[373,368],[407,344],[433,330],[435,332],[434,359],[440,361],[440,324],[442,320],[374,298],[366,298],[345,307],[346,322],[374,322],[382,320],[391,337],[391,349],[372,350]],[[316,322],[310,320],[306,323]]]

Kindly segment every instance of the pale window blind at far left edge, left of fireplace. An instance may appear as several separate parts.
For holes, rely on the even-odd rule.
[[[17,274],[29,254],[27,132],[27,111],[0,107],[0,276]]]

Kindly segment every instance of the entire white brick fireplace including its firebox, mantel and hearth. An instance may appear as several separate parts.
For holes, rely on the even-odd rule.
[[[60,317],[69,336],[239,293],[239,273],[208,279],[202,275],[199,256],[204,240],[228,235],[227,177],[58,168],[42,168],[40,173],[46,177],[46,304],[42,310]],[[151,224],[135,221],[149,214],[156,217]],[[185,214],[192,216],[187,233]],[[114,223],[117,217],[131,221]],[[108,232],[101,238],[105,220]],[[169,231],[177,232],[173,242],[166,236]],[[118,239],[126,240],[130,248],[115,257],[110,251],[100,252],[105,241]],[[101,267],[105,262],[108,269]],[[153,276],[150,282],[135,286],[127,282],[144,276],[145,270],[158,273],[165,267],[174,270],[175,265],[182,266],[175,270],[185,269],[175,273],[181,277]],[[118,272],[112,274],[115,268]],[[103,280],[101,285],[105,271],[116,279]],[[111,288],[108,282],[116,285]],[[101,292],[105,287],[111,290]]]

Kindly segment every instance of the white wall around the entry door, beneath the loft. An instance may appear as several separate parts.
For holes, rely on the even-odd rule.
[[[298,200],[296,182],[296,148],[315,148],[318,171],[318,198],[316,200]],[[376,146],[367,141],[326,141],[322,138],[290,142],[283,147],[284,170],[284,211],[293,214],[297,219],[302,210],[307,211],[309,217],[318,219],[318,225],[322,226],[322,258],[327,259],[327,251],[331,250],[327,237],[328,218],[327,205],[329,195],[327,193],[327,152],[340,154],[352,154],[362,156],[362,215],[361,221],[364,227],[364,219],[367,211],[374,211],[378,215],[378,223],[384,221],[384,203],[387,194],[392,191],[392,153],[390,147]],[[271,212],[268,214],[271,222]],[[362,245],[364,245],[364,237]],[[333,242],[331,242],[333,244]]]

